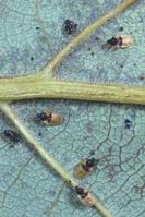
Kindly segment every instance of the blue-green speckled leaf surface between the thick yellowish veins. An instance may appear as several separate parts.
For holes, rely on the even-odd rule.
[[[0,75],[29,74],[41,69],[74,37],[62,34],[65,19],[76,22],[81,32],[121,2],[1,0]],[[117,34],[132,35],[134,45],[117,51],[102,49],[104,43]],[[56,76],[145,85],[144,73],[145,1],[141,0],[75,49]],[[17,101],[14,108],[36,138],[71,173],[82,157],[97,148],[98,168],[82,183],[114,217],[145,216],[144,106],[44,99]],[[64,123],[53,128],[36,124],[34,116],[46,108],[62,113]],[[130,128],[125,119],[131,121]],[[4,129],[14,126],[0,113],[0,217],[100,216],[78,204],[61,178],[23,138],[12,147],[2,136]]]

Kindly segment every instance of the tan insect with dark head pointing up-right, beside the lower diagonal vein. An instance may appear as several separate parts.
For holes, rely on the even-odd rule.
[[[74,177],[77,179],[86,178],[94,172],[97,160],[95,158],[83,159],[74,168]]]

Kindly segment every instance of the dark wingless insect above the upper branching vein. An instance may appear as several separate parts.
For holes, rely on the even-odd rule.
[[[77,32],[77,26],[78,26],[78,24],[67,19],[63,23],[62,32],[63,32],[63,34],[67,34],[67,35],[73,35]]]

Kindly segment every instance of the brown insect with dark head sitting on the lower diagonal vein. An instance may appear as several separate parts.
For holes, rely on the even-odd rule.
[[[96,203],[95,197],[83,186],[75,186],[77,198],[87,206],[94,206]]]

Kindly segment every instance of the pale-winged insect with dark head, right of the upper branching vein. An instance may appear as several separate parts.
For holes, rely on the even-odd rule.
[[[106,43],[108,48],[128,48],[133,45],[133,38],[130,35],[116,35]]]

